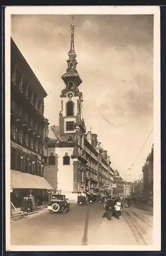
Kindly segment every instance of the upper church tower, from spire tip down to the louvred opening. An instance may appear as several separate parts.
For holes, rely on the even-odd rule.
[[[60,134],[75,133],[75,123],[81,121],[82,93],[79,92],[79,85],[82,80],[77,72],[77,60],[74,49],[74,24],[71,26],[71,44],[68,52],[66,73],[62,75],[65,82],[65,89],[62,90],[62,106],[60,112]]]

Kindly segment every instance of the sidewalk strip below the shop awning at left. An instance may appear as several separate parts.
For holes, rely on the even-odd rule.
[[[32,212],[29,212],[28,214],[23,214],[23,215],[22,215],[22,212],[21,212],[20,209],[21,208],[16,208],[15,209],[13,214],[10,216],[10,222],[22,220],[22,219],[27,218],[27,217],[29,217],[31,215],[37,214],[37,212],[39,212],[39,211],[41,211],[43,209],[46,209],[46,208],[43,205],[41,205],[41,206],[34,206]]]

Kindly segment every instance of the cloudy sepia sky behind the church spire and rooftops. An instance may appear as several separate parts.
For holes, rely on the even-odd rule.
[[[12,15],[11,36],[48,94],[51,125],[59,124],[70,23],[70,15]],[[87,131],[123,178],[139,179],[153,144],[153,15],[74,15],[74,25]]]

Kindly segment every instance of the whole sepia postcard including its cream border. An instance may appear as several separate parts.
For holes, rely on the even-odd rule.
[[[7,7],[5,71],[6,250],[160,250],[159,7]]]

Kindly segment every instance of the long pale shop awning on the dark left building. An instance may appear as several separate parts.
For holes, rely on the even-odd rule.
[[[12,188],[39,188],[53,189],[44,177],[22,173],[18,170],[11,170],[11,189]]]

